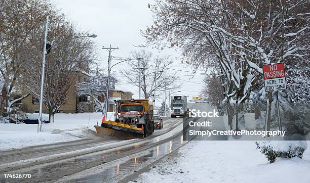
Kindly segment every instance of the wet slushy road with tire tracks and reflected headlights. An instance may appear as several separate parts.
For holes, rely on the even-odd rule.
[[[0,182],[126,181],[182,144],[182,118],[167,118],[164,129],[146,139],[94,138],[0,152]],[[31,178],[7,179],[5,173]]]

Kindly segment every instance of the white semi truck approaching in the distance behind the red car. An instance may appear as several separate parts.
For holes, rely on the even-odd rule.
[[[171,117],[182,116],[186,117],[187,114],[187,97],[186,96],[171,96]]]

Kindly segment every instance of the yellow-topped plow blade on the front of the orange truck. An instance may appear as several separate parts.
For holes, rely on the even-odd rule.
[[[103,136],[114,137],[118,139],[136,139],[143,138],[144,131],[142,128],[117,123],[115,121],[102,121],[101,126],[95,126],[98,134]]]

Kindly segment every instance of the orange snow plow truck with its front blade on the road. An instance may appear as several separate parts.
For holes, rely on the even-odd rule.
[[[115,102],[115,120],[102,119],[95,126],[97,133],[120,139],[145,138],[154,132],[153,106],[147,99],[118,100]]]

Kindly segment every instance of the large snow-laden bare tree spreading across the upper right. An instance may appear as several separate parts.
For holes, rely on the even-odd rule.
[[[149,5],[154,24],[142,34],[148,45],[180,48],[189,64],[208,68],[215,63],[225,77],[225,101],[234,108],[239,130],[244,126],[243,104],[262,78],[262,65],[305,60],[307,7],[306,0],[156,1]],[[267,95],[271,104],[272,93]]]

